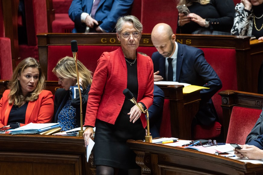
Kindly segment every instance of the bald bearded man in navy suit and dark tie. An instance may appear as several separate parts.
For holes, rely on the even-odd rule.
[[[199,112],[192,126],[209,126],[218,120],[211,97],[221,89],[222,82],[214,69],[207,63],[201,49],[175,42],[171,26],[157,24],[152,30],[152,43],[158,52],[152,54],[154,81],[177,81],[208,87],[200,91]],[[170,62],[170,63],[169,63]]]

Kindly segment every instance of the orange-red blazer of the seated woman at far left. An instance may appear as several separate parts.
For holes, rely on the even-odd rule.
[[[13,104],[8,103],[8,94],[10,90],[5,90],[3,97],[0,100],[0,127],[6,126],[9,118],[10,111]],[[28,102],[25,124],[29,123],[50,123],[54,115],[54,102],[53,95],[50,91],[43,90],[37,100]]]

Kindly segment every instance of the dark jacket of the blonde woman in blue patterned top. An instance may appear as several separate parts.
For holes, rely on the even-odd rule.
[[[75,88],[74,88],[75,87]],[[90,86],[87,89],[81,90],[81,97],[82,97],[82,113],[83,113],[83,122],[85,121],[85,114],[86,114],[86,107],[88,101],[88,93],[89,93]],[[58,114],[61,109],[66,104],[68,98],[71,99],[71,105],[76,108],[76,115],[77,115],[77,124],[80,127],[80,95],[77,86],[73,86],[71,90],[66,91],[63,88],[57,89],[55,92],[55,100],[54,100],[54,121],[55,123],[58,122]],[[74,98],[75,97],[75,98]]]

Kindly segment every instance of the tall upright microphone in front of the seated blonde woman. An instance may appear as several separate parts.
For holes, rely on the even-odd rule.
[[[83,136],[83,112],[82,112],[82,97],[81,97],[81,91],[80,91],[80,82],[79,82],[79,71],[78,71],[78,64],[77,64],[77,58],[78,58],[78,44],[76,40],[70,41],[71,43],[71,51],[75,60],[75,66],[76,66],[76,72],[77,72],[77,84],[80,94],[80,131],[79,136]]]

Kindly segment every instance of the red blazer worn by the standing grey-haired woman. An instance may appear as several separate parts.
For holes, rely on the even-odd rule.
[[[137,76],[137,102],[142,102],[149,109],[153,103],[153,63],[150,57],[137,54]],[[126,88],[127,65],[122,48],[104,52],[94,72],[84,125],[95,126],[96,118],[114,124],[121,112],[125,100],[123,90]],[[145,128],[145,115],[140,119]]]

